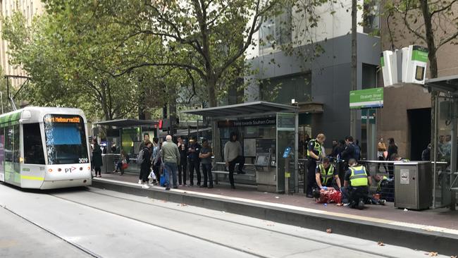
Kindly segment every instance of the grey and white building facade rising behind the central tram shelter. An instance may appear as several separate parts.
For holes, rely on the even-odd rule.
[[[318,133],[327,137],[330,152],[332,140],[349,135],[349,91],[352,89],[352,1],[325,4],[316,10],[317,26],[298,40],[295,33],[303,31],[301,13],[295,8],[286,10],[281,17],[267,19],[259,30],[256,46],[247,54],[247,64],[258,73],[245,78],[247,100],[264,100],[299,106],[299,134],[314,138]],[[363,1],[361,3],[363,4]],[[376,8],[377,9],[377,8]],[[362,25],[362,12],[357,26],[357,89],[378,86],[380,38],[369,35],[378,27],[378,16]],[[306,22],[307,23],[307,22]],[[285,26],[286,25],[286,26]],[[266,44],[266,35],[277,44],[292,43],[292,51]],[[264,39],[264,40],[263,40]],[[302,44],[305,42],[307,44]],[[357,112],[357,135],[360,144],[366,142],[361,112]],[[361,130],[364,129],[364,130]],[[362,132],[362,133],[361,133]],[[300,150],[299,150],[300,151]]]

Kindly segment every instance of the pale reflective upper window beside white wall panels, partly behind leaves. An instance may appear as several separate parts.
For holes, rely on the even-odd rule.
[[[276,16],[264,20],[259,28],[259,51],[289,44],[292,37],[292,8],[285,7]]]

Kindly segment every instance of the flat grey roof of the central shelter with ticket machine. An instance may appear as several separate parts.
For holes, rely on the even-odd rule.
[[[228,106],[216,106],[207,109],[194,109],[182,111],[197,116],[209,118],[241,118],[247,116],[265,116],[273,113],[294,112],[295,106],[271,102],[248,102]]]

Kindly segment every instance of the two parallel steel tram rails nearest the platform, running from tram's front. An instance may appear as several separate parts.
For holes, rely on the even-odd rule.
[[[316,238],[307,238],[307,237],[302,236],[302,235],[294,235],[294,234],[285,233],[285,232],[282,232],[282,231],[276,231],[276,230],[273,230],[271,228],[263,228],[263,227],[260,227],[260,226],[254,226],[254,225],[247,224],[247,223],[241,223],[241,222],[237,222],[237,221],[231,221],[231,220],[228,220],[228,219],[217,218],[215,216],[198,214],[198,213],[192,212],[192,211],[184,211],[182,209],[164,207],[164,206],[158,205],[158,204],[152,204],[152,203],[149,203],[149,202],[142,202],[142,201],[139,201],[139,200],[136,200],[136,199],[130,199],[130,198],[126,198],[126,197],[119,197],[119,196],[116,196],[116,195],[109,195],[109,194],[101,193],[101,192],[94,192],[92,190],[86,190],[86,191],[90,192],[90,193],[92,193],[94,195],[102,195],[102,196],[111,197],[111,198],[114,198],[114,199],[122,199],[122,200],[125,200],[125,201],[128,201],[128,202],[136,202],[136,203],[145,204],[145,205],[148,205],[148,206],[151,206],[151,207],[157,207],[159,209],[167,209],[167,210],[171,210],[171,211],[180,212],[182,214],[192,214],[194,216],[200,216],[200,217],[206,218],[206,219],[213,219],[213,220],[221,221],[221,222],[224,222],[224,223],[232,223],[232,224],[235,224],[237,226],[245,226],[245,227],[248,227],[248,228],[254,228],[256,230],[266,231],[266,232],[269,232],[269,233],[276,233],[276,234],[280,234],[280,235],[285,235],[287,237],[297,238],[299,240],[308,240],[308,241],[313,241],[313,242],[319,242],[319,243],[324,244],[324,245],[330,245],[330,246],[332,245],[330,242],[327,242],[326,240],[319,240],[319,239],[316,239]],[[202,238],[202,237],[199,237],[197,235],[192,235],[190,233],[185,233],[185,232],[182,232],[182,231],[175,230],[173,228],[167,228],[167,227],[161,226],[160,224],[157,224],[157,223],[151,223],[149,221],[143,221],[141,219],[133,218],[132,216],[127,216],[125,214],[119,214],[117,212],[109,211],[107,209],[101,209],[99,207],[94,207],[93,205],[84,204],[82,202],[78,202],[78,201],[75,201],[73,199],[68,199],[68,198],[61,197],[61,196],[58,196],[58,195],[54,195],[54,194],[51,194],[51,193],[49,193],[49,195],[51,195],[52,197],[56,197],[58,199],[63,199],[65,201],[67,201],[67,202],[72,202],[72,203],[75,203],[75,204],[82,205],[84,207],[97,209],[98,211],[106,212],[106,213],[113,214],[113,215],[116,215],[116,216],[121,216],[121,217],[123,217],[125,219],[131,219],[133,221],[137,221],[137,222],[140,222],[140,223],[145,223],[145,224],[148,224],[150,226],[156,226],[156,227],[162,228],[162,229],[164,229],[166,231],[172,231],[174,233],[179,233],[179,234],[182,234],[182,235],[186,235],[186,236],[189,236],[191,238],[196,238],[196,239],[203,240],[203,241],[206,241],[206,242],[211,242],[213,244],[220,245],[220,246],[223,246],[223,247],[227,247],[227,248],[230,248],[232,250],[236,250],[238,252],[245,252],[246,254],[253,255],[254,257],[263,257],[263,258],[264,257],[266,257],[266,258],[268,257],[268,256],[265,256],[263,254],[257,254],[255,252],[250,252],[248,250],[244,250],[244,249],[241,249],[241,248],[238,248],[238,247],[233,247],[231,245],[225,245],[224,243],[221,243],[221,242],[216,242],[216,241],[213,241],[213,240],[209,240],[207,238]],[[397,256],[392,256],[392,255],[388,255],[388,254],[380,254],[380,253],[377,253],[377,252],[371,252],[370,250],[364,250],[364,249],[357,248],[357,247],[347,247],[347,246],[341,246],[341,245],[339,247],[343,248],[343,249],[346,249],[346,250],[354,251],[354,252],[362,252],[364,254],[373,254],[373,255],[376,255],[378,257],[397,258]]]

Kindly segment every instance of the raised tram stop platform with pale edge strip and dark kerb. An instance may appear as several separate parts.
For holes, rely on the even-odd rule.
[[[282,195],[259,192],[256,188],[218,184],[215,188],[194,185],[166,191],[152,186],[143,189],[138,175],[102,174],[92,186],[140,195],[233,214],[251,216],[293,226],[365,238],[428,252],[458,255],[458,211],[428,209],[412,211],[397,209],[392,202],[385,206],[366,205],[364,210],[335,204],[317,204],[303,194]],[[338,243],[333,243],[338,245]]]

